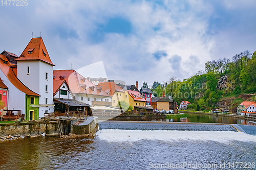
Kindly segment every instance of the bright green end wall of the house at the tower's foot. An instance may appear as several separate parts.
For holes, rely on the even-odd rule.
[[[33,118],[29,116],[29,111],[34,111],[34,120],[39,119],[39,107],[32,107],[30,104],[30,97],[35,98],[35,104],[36,106],[39,105],[39,96],[32,96],[32,95],[26,95],[26,120],[32,120]]]

